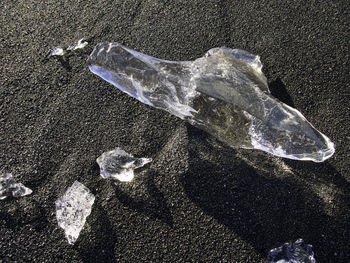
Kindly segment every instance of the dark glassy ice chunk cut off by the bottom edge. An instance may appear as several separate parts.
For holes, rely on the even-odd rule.
[[[316,263],[312,246],[305,244],[302,239],[272,249],[268,260],[271,263]]]

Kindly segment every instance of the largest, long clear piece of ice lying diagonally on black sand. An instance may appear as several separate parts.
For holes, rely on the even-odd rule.
[[[139,101],[174,114],[232,147],[322,162],[333,143],[296,109],[271,96],[259,56],[213,48],[194,61],[167,61],[100,43],[90,70]]]

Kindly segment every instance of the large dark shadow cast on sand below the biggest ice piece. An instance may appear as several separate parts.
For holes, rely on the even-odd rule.
[[[236,157],[232,148],[220,142],[215,143],[219,146],[208,143],[210,136],[190,125],[188,134],[189,170],[180,178],[188,197],[205,213],[249,242],[262,256],[284,242],[303,238],[314,246],[317,262],[349,258],[344,236],[349,225],[326,214],[323,200],[306,185],[292,177],[256,171]],[[208,159],[215,162],[200,156],[210,156]],[[327,163],[288,161],[288,165],[296,171],[295,176],[299,169],[316,169],[324,183],[335,183],[349,191],[349,183]],[[347,208],[344,211],[349,211],[349,200],[338,201]]]

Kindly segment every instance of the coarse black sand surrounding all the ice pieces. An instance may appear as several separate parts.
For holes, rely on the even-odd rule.
[[[0,262],[265,262],[297,238],[318,263],[350,262],[349,2],[174,2],[0,2],[0,168],[33,190],[0,203]],[[44,59],[83,37],[79,55]],[[272,93],[336,153],[317,164],[233,150],[90,73],[102,41],[170,60],[259,54]],[[116,146],[154,161],[114,185],[95,160]],[[70,246],[54,202],[75,180],[96,201]]]

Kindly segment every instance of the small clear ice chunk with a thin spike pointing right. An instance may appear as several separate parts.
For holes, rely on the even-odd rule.
[[[120,148],[104,152],[96,160],[103,178],[112,177],[122,182],[130,182],[134,178],[134,170],[151,161],[151,158],[135,158]]]

